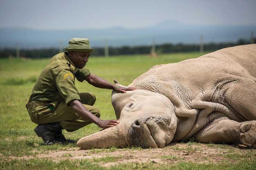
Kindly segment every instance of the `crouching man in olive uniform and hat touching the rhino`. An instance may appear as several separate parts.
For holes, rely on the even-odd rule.
[[[84,68],[94,50],[90,47],[89,39],[72,38],[65,50],[54,56],[40,73],[26,104],[31,121],[38,124],[34,131],[45,144],[65,142],[62,129],[72,132],[90,123],[101,128],[119,123],[117,120],[99,118],[100,111],[93,106],[96,100],[94,94],[79,93],[75,78],[81,82],[86,80],[99,88],[124,93],[135,90],[111,84]]]

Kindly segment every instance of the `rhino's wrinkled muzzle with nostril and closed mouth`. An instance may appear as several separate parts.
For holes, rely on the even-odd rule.
[[[162,117],[147,117],[135,120],[128,131],[128,146],[142,148],[163,148],[166,144],[165,132],[167,120]]]

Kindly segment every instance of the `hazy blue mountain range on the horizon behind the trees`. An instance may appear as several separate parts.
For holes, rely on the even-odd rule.
[[[91,40],[92,47],[103,47],[106,39],[109,46],[138,46],[162,43],[199,43],[199,36],[204,42],[237,41],[249,39],[251,32],[256,32],[256,25],[248,26],[196,26],[166,20],[149,27],[128,29],[123,27],[104,29],[73,29],[73,30],[35,30],[29,28],[1,28],[0,48],[51,48],[59,47],[73,37],[84,37]]]

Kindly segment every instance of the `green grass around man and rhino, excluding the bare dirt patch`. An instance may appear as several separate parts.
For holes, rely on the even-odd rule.
[[[129,85],[132,80],[140,74],[156,64],[165,64],[171,62],[179,62],[188,58],[196,58],[201,56],[200,53],[174,53],[160,55],[158,58],[149,58],[147,56],[118,56],[118,57],[97,57],[90,58],[88,66],[92,73],[113,82],[116,78],[121,84]],[[45,146],[42,139],[36,136],[33,129],[36,124],[31,122],[25,104],[27,103],[33,85],[40,72],[47,64],[49,59],[0,59],[0,169],[106,169],[102,166],[106,162],[116,162],[121,159],[119,155],[106,156],[103,158],[73,160],[73,154],[63,154],[60,161],[54,161],[46,158],[36,158],[40,153],[50,151],[71,151],[76,148],[75,143],[66,145],[55,144]],[[111,105],[111,90],[99,89],[91,86],[87,82],[76,81],[76,87],[80,92],[93,92],[97,96],[95,106],[101,110],[102,119],[115,119],[115,112]],[[90,124],[75,132],[69,133],[64,131],[65,137],[78,140],[81,137],[99,131],[100,128],[95,124]],[[210,148],[222,147],[228,148],[226,145],[209,144]],[[186,144],[185,148],[176,146],[171,147],[175,151],[185,151],[193,153],[200,151],[200,145],[193,140]],[[91,149],[89,154],[115,153],[120,151],[115,147],[109,149]],[[124,148],[121,151],[143,151],[142,148],[132,147]],[[149,149],[149,151],[151,151]],[[252,152],[252,153],[251,153]],[[251,151],[250,155],[256,157],[255,151]],[[166,155],[166,154],[165,154]],[[28,156],[29,160],[24,159]],[[221,156],[220,156],[221,157]],[[184,161],[182,158],[171,155],[159,155],[161,160],[176,160],[173,164],[154,164],[147,163],[122,163],[108,167],[109,169],[254,169],[255,161],[249,161],[249,153],[241,155],[241,153],[229,152],[226,158],[238,160],[235,163],[193,163]]]

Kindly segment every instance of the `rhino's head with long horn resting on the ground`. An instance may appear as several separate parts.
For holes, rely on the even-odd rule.
[[[112,146],[163,148],[170,143],[177,128],[171,101],[146,90],[112,92],[112,105],[119,124],[80,139],[82,149]]]

